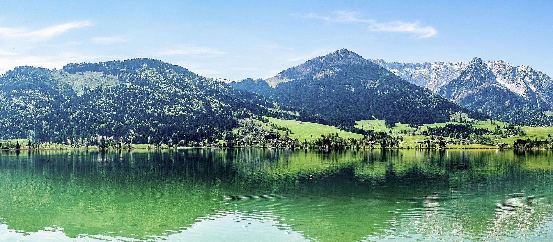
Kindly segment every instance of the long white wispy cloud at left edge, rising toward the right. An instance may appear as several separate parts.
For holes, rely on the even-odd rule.
[[[47,39],[54,38],[60,34],[65,33],[71,29],[83,28],[93,25],[89,21],[70,22],[65,24],[58,24],[42,29],[29,30],[27,28],[6,28],[0,27],[0,38],[14,39],[14,38],[28,38],[29,41],[38,42]]]

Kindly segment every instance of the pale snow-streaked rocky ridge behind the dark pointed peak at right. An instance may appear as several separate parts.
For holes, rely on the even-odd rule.
[[[492,80],[507,88],[510,92],[528,100],[535,106],[553,107],[553,79],[543,72],[535,71],[529,66],[512,66],[505,61],[482,61],[473,59],[482,68],[492,73]],[[471,61],[471,62],[473,62]],[[442,86],[457,78],[467,69],[464,62],[425,62],[422,64],[403,64],[373,60],[380,67],[393,72],[415,85],[437,92]]]

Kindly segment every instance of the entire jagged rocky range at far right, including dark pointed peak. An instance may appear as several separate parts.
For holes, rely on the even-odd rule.
[[[473,111],[527,124],[550,119],[542,111],[553,107],[553,80],[528,66],[479,58],[469,63],[402,64],[382,59],[373,62]]]

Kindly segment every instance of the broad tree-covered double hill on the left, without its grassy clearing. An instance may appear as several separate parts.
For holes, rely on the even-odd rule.
[[[158,60],[70,63],[64,70],[117,75],[121,85],[98,86],[77,96],[46,69],[8,71],[0,77],[2,139],[64,141],[100,135],[122,136],[134,144],[189,144],[225,138],[237,119],[264,114],[258,104],[271,105],[257,94]]]

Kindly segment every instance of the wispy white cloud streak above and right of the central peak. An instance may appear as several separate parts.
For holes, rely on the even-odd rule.
[[[306,18],[322,19],[327,22],[337,23],[366,23],[368,24],[369,31],[385,31],[385,32],[403,32],[415,34],[417,38],[428,38],[434,36],[438,31],[431,26],[423,26],[419,21],[404,22],[401,20],[394,20],[392,22],[380,23],[375,19],[359,18],[358,13],[348,11],[335,11],[332,12],[332,16],[319,15],[315,13],[309,13],[303,15]]]

